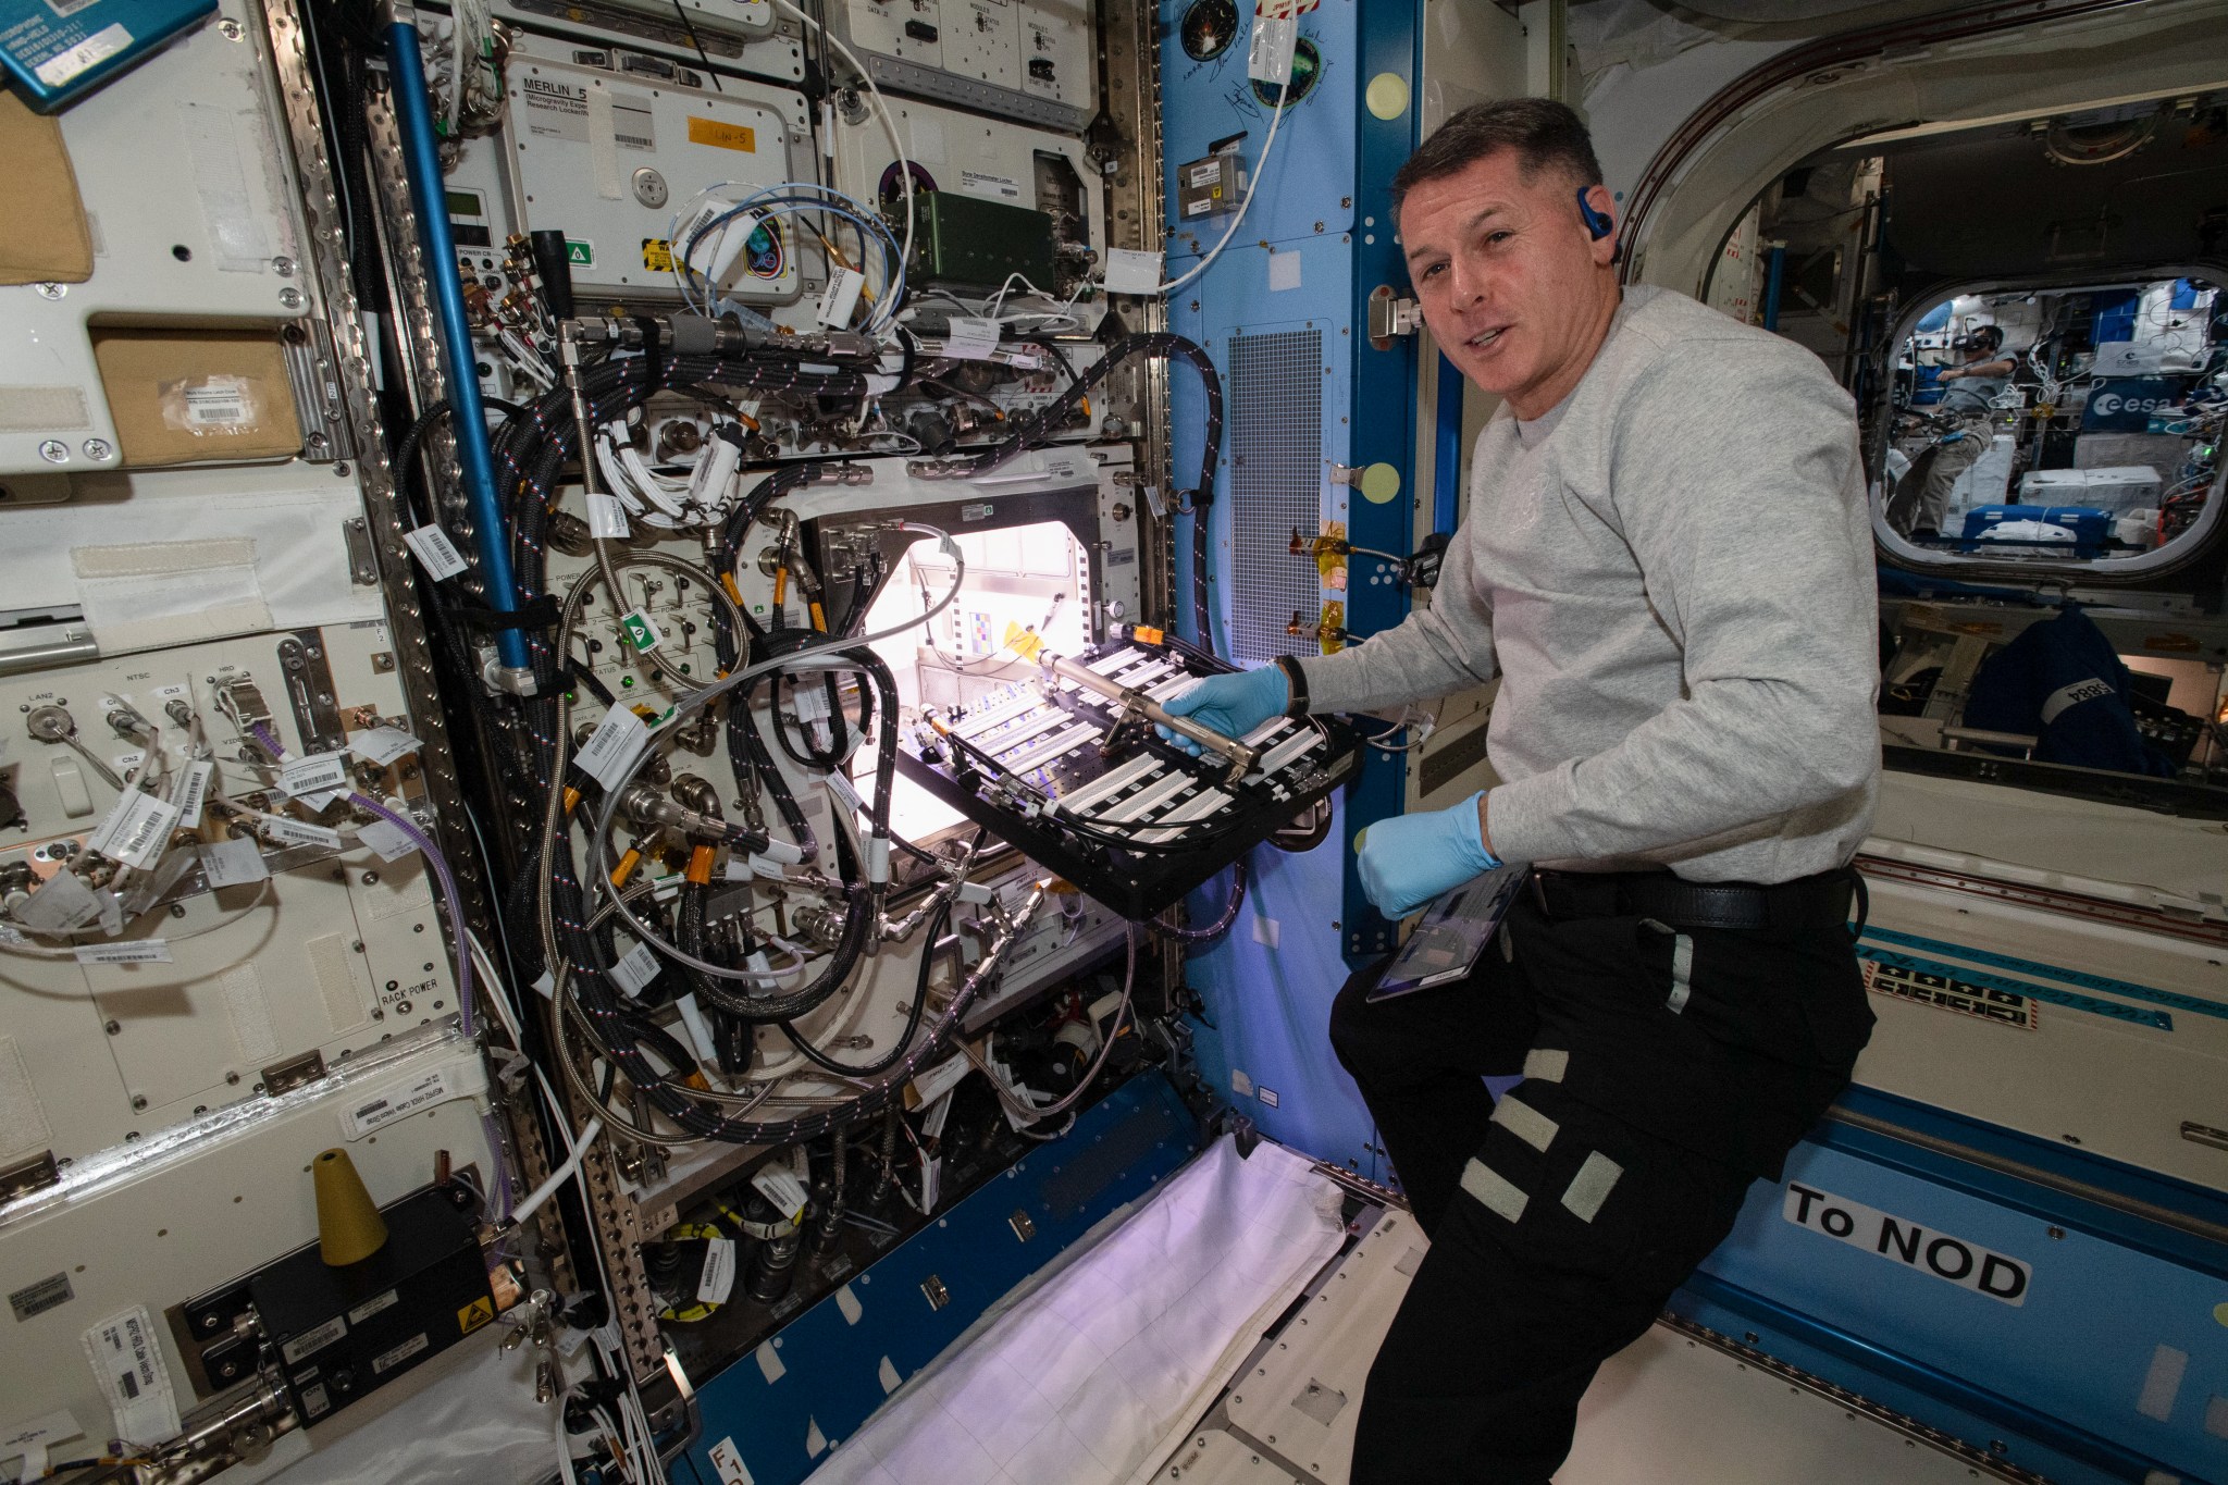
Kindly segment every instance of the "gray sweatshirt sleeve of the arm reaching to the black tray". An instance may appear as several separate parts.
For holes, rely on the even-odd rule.
[[[1495,677],[1493,610],[1477,590],[1473,530],[1466,519],[1446,545],[1430,606],[1410,608],[1390,630],[1337,655],[1301,661],[1308,710],[1372,712],[1446,697]]]

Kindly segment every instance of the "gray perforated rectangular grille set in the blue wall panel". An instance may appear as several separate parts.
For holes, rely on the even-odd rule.
[[[1292,557],[1297,525],[1312,537],[1323,510],[1323,332],[1230,336],[1230,657],[1261,663],[1315,655],[1283,632],[1315,619],[1315,563]]]

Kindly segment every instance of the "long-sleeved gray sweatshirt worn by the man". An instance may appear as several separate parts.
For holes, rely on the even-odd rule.
[[[1876,623],[1849,396],[1789,341],[1629,287],[1553,414],[1477,436],[1430,608],[1303,668],[1321,712],[1497,672],[1502,859],[1787,882],[1872,819]]]

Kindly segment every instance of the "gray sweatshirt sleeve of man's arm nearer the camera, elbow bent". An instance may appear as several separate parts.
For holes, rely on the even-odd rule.
[[[1872,525],[1847,394],[1794,345],[1698,338],[1620,401],[1609,492],[1684,695],[1593,757],[1497,786],[1486,828],[1511,862],[1675,862],[1878,773]]]

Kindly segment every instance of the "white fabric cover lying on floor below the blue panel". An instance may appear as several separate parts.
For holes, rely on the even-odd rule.
[[[1123,1485],[1159,1469],[1339,1251],[1339,1189],[1225,1138],[900,1389],[809,1485]]]

